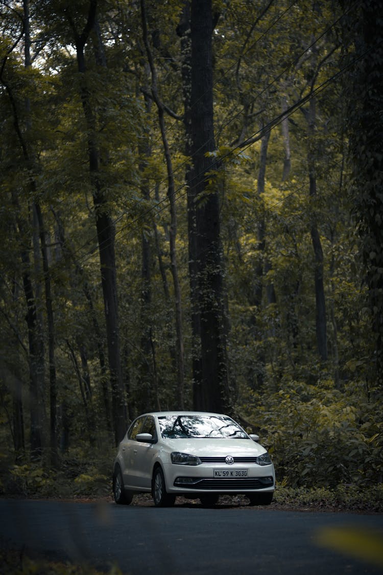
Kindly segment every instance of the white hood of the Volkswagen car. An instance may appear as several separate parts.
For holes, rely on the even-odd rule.
[[[182,451],[199,457],[258,457],[266,449],[252,439],[163,439],[171,451]]]

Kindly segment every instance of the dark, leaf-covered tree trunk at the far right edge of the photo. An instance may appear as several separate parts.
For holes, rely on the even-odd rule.
[[[354,21],[344,21],[346,48],[355,66],[347,78],[347,131],[350,165],[353,171],[353,201],[359,216],[360,251],[368,289],[373,334],[373,360],[370,377],[383,388],[383,60],[382,0],[363,0],[355,7],[351,0],[341,2],[357,10]],[[355,56],[357,56],[355,58]]]

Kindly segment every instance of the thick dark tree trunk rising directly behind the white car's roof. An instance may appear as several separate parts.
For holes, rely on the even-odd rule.
[[[196,284],[200,314],[201,373],[194,407],[230,411],[227,381],[223,257],[218,191],[208,186],[215,149],[212,101],[211,0],[191,3],[191,135],[194,165]],[[215,168],[216,169],[216,168]]]

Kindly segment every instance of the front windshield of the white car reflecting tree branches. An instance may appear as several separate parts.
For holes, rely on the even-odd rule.
[[[158,417],[161,435],[168,439],[248,439],[230,417],[215,415],[165,415]]]

